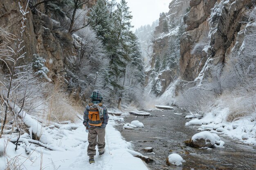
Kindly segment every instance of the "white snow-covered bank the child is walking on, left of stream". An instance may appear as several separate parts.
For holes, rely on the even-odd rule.
[[[99,156],[97,152],[95,163],[88,162],[88,133],[83,124],[78,123],[74,124],[78,127],[75,130],[71,130],[69,124],[65,128],[47,129],[54,139],[49,144],[54,150],[31,144],[31,152],[27,155],[25,144],[18,146],[15,151],[15,145],[7,138],[0,139],[0,170],[5,170],[9,164],[26,170],[148,170],[141,159],[134,157],[141,154],[130,150],[132,144],[122,139],[120,132],[113,127],[115,119],[112,116],[110,118],[112,120],[106,127],[106,153]]]

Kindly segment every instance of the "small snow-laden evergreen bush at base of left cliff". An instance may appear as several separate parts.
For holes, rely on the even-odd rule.
[[[45,78],[48,82],[52,82],[52,80],[49,79],[47,76],[47,73],[49,73],[49,69],[45,67],[46,60],[37,54],[34,54],[33,57],[34,57],[34,61],[33,61],[32,67],[35,70],[35,74],[41,78]]]

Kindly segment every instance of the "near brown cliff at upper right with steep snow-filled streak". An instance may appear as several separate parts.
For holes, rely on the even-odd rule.
[[[191,0],[184,17],[186,33],[180,42],[180,75],[192,81],[204,75],[209,64],[225,62],[248,21],[255,0]]]

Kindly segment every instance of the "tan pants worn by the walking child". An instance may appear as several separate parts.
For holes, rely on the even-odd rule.
[[[98,139],[97,139],[98,138]],[[87,148],[87,155],[92,156],[96,155],[95,146],[98,146],[98,150],[103,152],[105,148],[105,128],[89,128],[88,134],[88,148]]]

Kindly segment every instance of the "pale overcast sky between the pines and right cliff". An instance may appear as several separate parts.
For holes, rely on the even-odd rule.
[[[117,0],[120,2],[121,0]],[[132,12],[132,25],[139,28],[141,25],[151,24],[159,19],[159,14],[169,11],[169,3],[172,0],[126,0]]]

